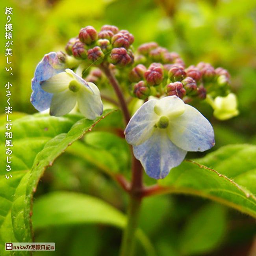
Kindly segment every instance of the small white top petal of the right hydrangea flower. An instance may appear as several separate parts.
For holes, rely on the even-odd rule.
[[[157,102],[154,110],[160,116],[172,118],[184,113],[185,103],[177,96],[167,96]]]

